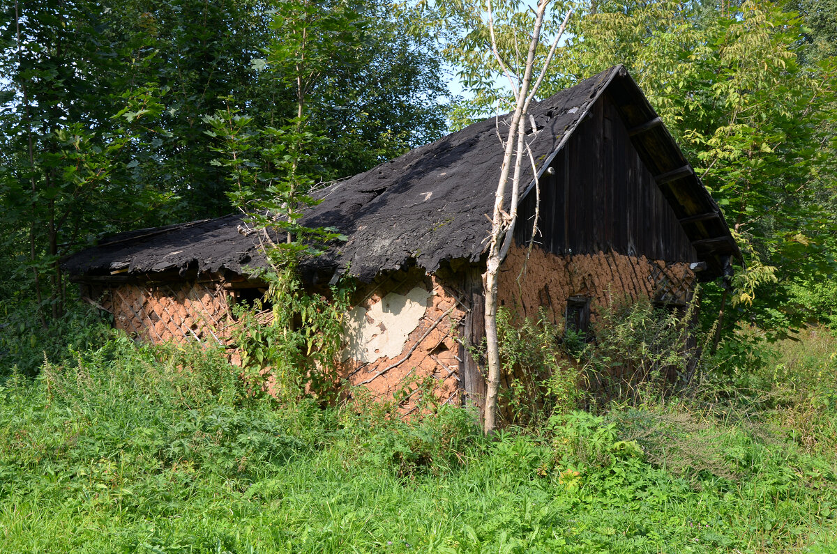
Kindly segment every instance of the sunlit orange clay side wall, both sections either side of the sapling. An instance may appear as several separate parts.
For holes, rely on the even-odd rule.
[[[88,290],[114,315],[117,329],[143,341],[228,344],[234,321],[229,291],[213,283],[116,285]],[[413,413],[423,395],[459,403],[458,293],[424,271],[401,271],[362,287],[346,318],[341,377],[375,400]],[[236,351],[230,361],[239,363]],[[424,398],[429,400],[429,398]]]

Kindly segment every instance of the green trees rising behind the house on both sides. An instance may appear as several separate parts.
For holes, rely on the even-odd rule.
[[[492,4],[514,82],[534,15]],[[486,7],[4,0],[3,283],[23,283],[59,315],[61,255],[116,230],[229,213],[235,180],[209,122],[218,114],[246,121],[240,136],[258,143],[248,158],[264,168],[249,184],[258,196],[283,160],[306,188],[506,110]],[[837,289],[834,0],[562,0],[547,42],[570,8],[539,95],[613,64],[639,81],[745,250],[734,290],[722,300],[708,287],[705,313],[728,302],[728,328],[748,321],[776,336],[832,317],[821,299]],[[536,64],[546,55],[542,45]],[[468,94],[445,105],[451,67]]]

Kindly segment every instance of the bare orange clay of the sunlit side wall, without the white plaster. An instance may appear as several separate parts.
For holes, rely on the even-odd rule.
[[[347,362],[344,376],[367,387],[372,397],[395,400],[400,413],[413,413],[433,395],[436,403],[460,402],[458,372],[459,327],[465,315],[455,293],[434,277],[397,274],[372,285],[364,301],[380,293],[403,291],[427,280],[433,292],[418,327],[408,336],[401,356],[382,357],[370,364]],[[199,341],[230,345],[235,321],[232,296],[220,284],[184,282],[173,285],[116,285],[105,290],[100,305],[114,315],[117,329],[143,341]],[[230,361],[239,363],[239,351],[229,349]],[[386,370],[383,371],[382,370]],[[381,372],[380,375],[377,375]]]

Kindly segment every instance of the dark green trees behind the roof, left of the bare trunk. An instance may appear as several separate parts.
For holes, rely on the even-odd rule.
[[[322,18],[327,27],[341,13],[357,23],[308,44],[318,69],[306,82],[306,131],[328,145],[307,152],[306,172],[347,177],[438,138],[437,100],[448,94],[439,54],[421,34],[400,31],[414,12],[391,8],[381,0],[0,3],[4,276],[13,271],[57,316],[60,256],[105,233],[231,212],[229,167],[217,162],[205,118],[226,110],[280,129],[297,117],[288,10],[303,23]]]

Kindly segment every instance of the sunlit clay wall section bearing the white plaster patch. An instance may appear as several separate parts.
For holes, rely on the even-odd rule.
[[[398,272],[358,292],[347,317],[344,377],[402,414],[423,394],[460,403],[459,340],[465,308],[458,293],[424,271]]]

